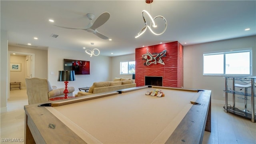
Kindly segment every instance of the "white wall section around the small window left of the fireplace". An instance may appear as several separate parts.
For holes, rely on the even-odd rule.
[[[134,50],[135,53],[135,50]],[[128,54],[123,56],[112,57],[112,74],[111,80],[114,78],[130,78],[132,79],[132,74],[120,74],[120,62],[122,61],[135,61],[135,54]],[[135,72],[136,73],[136,72]]]

